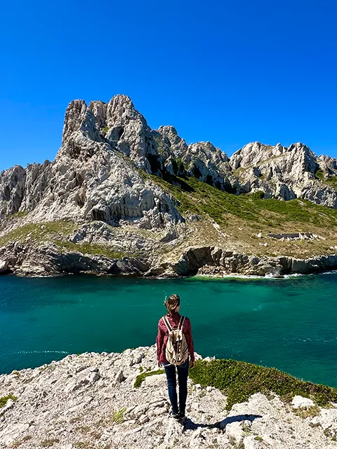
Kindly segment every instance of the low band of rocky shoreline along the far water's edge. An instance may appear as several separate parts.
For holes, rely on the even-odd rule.
[[[1,257],[3,260],[1,260]],[[183,254],[166,257],[121,257],[77,251],[61,252],[51,242],[36,246],[10,243],[0,253],[0,274],[55,276],[58,274],[130,274],[151,277],[180,277],[196,274],[212,276],[269,276],[313,274],[337,269],[337,254],[308,259],[257,257],[213,246],[186,248]]]

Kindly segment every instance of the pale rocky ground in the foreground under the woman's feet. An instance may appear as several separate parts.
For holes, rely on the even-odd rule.
[[[196,358],[201,358],[196,354]],[[296,396],[253,394],[226,410],[227,398],[188,380],[187,419],[168,417],[164,374],[156,347],[122,354],[86,352],[34,369],[0,375],[2,448],[220,448],[336,449],[336,408]]]

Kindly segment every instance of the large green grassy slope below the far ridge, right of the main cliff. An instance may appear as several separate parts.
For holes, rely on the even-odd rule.
[[[168,182],[155,175],[143,176],[171,194],[180,213],[209,215],[220,226],[227,225],[229,214],[270,227],[279,227],[286,222],[302,222],[316,227],[337,225],[337,210],[303,199],[263,199],[263,192],[229,194],[194,177],[172,176]]]

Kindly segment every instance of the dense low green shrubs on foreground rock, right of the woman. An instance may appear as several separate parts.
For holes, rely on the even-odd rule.
[[[297,379],[276,368],[265,368],[243,361],[196,361],[190,378],[201,387],[216,387],[227,396],[227,410],[235,403],[245,402],[252,394],[270,391],[291,401],[299,394],[312,398],[318,406],[337,401],[337,389]]]

